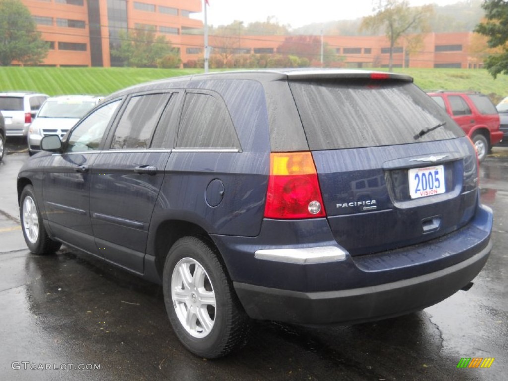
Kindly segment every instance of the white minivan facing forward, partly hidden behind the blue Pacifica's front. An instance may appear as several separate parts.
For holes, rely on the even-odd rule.
[[[96,96],[70,95],[48,98],[39,109],[28,129],[28,152],[40,151],[41,139],[46,135],[63,138],[74,124],[102,99]]]

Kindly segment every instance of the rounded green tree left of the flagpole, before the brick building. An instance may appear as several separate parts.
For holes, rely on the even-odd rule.
[[[166,56],[175,56],[172,60],[180,63],[178,49],[171,46],[171,42],[164,36],[155,37],[153,27],[135,29],[133,32],[118,34],[120,45],[111,50],[111,54],[123,60],[124,66],[131,68],[160,67],[161,62],[168,62]],[[166,58],[165,58],[166,57]],[[161,61],[162,58],[165,58]]]

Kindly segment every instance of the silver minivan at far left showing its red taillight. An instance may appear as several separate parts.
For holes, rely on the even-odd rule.
[[[0,92],[0,110],[4,114],[7,136],[24,136],[46,94],[26,91]]]

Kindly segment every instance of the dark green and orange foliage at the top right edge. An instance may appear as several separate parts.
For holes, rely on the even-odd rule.
[[[482,4],[486,21],[477,25],[475,31],[488,37],[490,48],[500,51],[489,54],[484,61],[490,75],[508,74],[508,3],[504,0],[488,0]]]

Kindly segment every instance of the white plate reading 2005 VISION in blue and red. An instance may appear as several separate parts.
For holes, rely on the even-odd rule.
[[[408,171],[408,176],[411,199],[440,195],[446,192],[443,166],[413,168]]]

